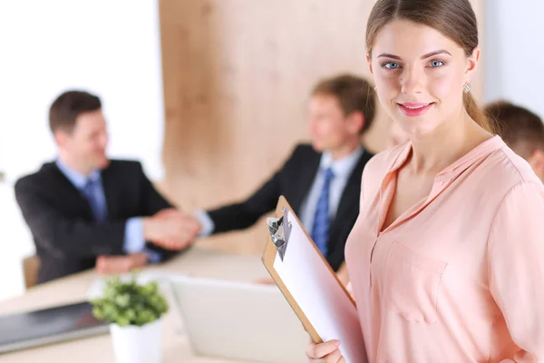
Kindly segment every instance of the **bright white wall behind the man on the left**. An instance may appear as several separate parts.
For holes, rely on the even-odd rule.
[[[159,29],[154,0],[0,2],[0,171],[7,177],[0,215],[9,216],[0,226],[2,260],[18,261],[34,251],[13,183],[55,157],[47,111],[64,90],[100,95],[110,155],[139,159],[151,179],[162,178]],[[0,277],[11,273],[6,269],[0,261]],[[20,290],[6,282],[0,278],[4,294]]]

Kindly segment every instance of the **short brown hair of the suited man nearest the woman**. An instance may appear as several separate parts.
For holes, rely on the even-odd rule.
[[[361,112],[364,115],[364,126],[361,133],[366,132],[374,121],[376,100],[374,89],[364,78],[352,74],[341,74],[327,78],[316,84],[312,95],[326,94],[335,96],[345,115]]]

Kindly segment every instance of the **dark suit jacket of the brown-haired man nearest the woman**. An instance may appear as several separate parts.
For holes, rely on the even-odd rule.
[[[325,256],[333,270],[338,270],[344,261],[345,240],[359,214],[361,176],[364,165],[373,155],[364,151],[345,185],[335,221],[332,221]],[[297,145],[283,167],[270,178],[248,200],[208,211],[215,224],[214,233],[241,230],[254,224],[261,216],[276,210],[277,200],[285,196],[293,211],[300,212],[302,202],[310,190],[319,169],[321,153],[311,145]]]

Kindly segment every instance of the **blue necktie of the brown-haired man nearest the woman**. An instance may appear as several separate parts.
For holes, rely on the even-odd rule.
[[[332,168],[325,170],[325,182],[317,200],[316,212],[314,215],[314,226],[312,227],[312,240],[316,243],[317,248],[321,251],[321,254],[326,257],[328,252],[328,238],[330,229],[329,220],[329,194],[331,189],[331,182],[335,177],[335,173]]]

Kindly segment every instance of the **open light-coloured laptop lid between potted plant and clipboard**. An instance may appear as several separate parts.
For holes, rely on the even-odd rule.
[[[276,286],[172,277],[189,342],[201,356],[306,362],[309,336]]]

